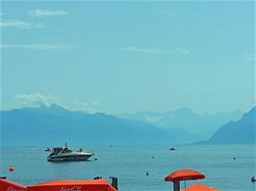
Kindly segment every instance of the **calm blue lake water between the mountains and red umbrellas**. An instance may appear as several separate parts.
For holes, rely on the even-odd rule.
[[[114,176],[120,191],[170,191],[172,183],[164,181],[166,175],[190,168],[205,174],[206,179],[187,181],[187,185],[203,183],[223,191],[253,191],[256,185],[250,181],[256,177],[255,145],[177,146],[177,151],[168,151],[168,146],[95,147],[90,148],[96,154],[90,161],[59,163],[47,162],[44,149],[1,148],[0,175],[25,185]],[[9,172],[11,165],[13,173]]]

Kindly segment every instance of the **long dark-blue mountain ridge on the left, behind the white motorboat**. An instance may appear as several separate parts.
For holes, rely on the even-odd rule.
[[[1,111],[2,146],[176,143],[166,131],[136,120],[63,107],[25,107]]]

